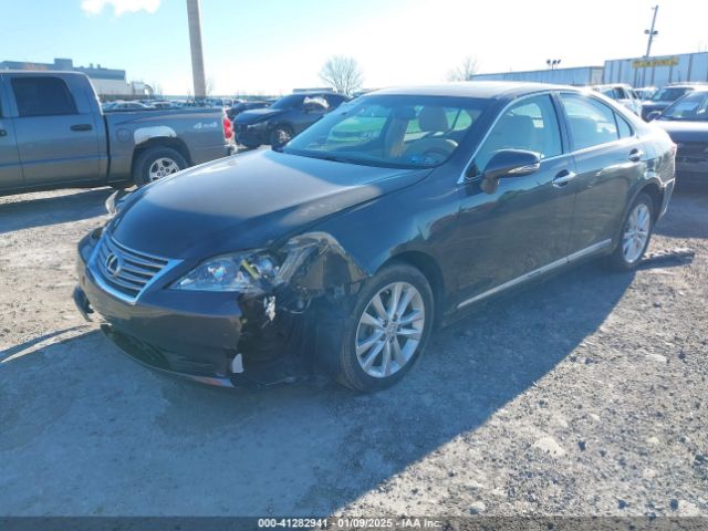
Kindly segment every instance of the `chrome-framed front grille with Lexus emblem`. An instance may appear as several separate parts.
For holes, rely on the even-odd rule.
[[[128,249],[110,235],[101,239],[96,253],[96,268],[102,280],[132,300],[137,299],[168,263],[168,259]]]

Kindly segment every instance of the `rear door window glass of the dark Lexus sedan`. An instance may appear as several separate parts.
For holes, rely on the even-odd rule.
[[[568,114],[573,147],[583,149],[620,138],[615,113],[604,103],[583,94],[561,94]]]

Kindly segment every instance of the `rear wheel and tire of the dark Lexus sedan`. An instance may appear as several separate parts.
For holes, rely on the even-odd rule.
[[[617,247],[607,257],[607,266],[615,271],[636,269],[649,247],[653,229],[654,201],[647,194],[641,192],[627,210]]]

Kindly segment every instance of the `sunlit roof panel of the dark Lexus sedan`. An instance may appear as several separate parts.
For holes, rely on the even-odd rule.
[[[535,92],[570,90],[581,92],[575,86],[554,85],[550,83],[531,83],[519,81],[465,81],[439,85],[402,86],[383,88],[365,94],[371,95],[408,95],[408,96],[448,96],[479,98],[513,98]]]

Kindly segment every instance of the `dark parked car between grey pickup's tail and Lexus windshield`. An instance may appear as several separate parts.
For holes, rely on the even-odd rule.
[[[332,92],[283,96],[270,107],[243,111],[236,116],[236,139],[251,149],[262,144],[278,148],[348,100]]]

